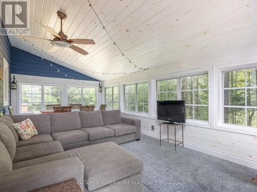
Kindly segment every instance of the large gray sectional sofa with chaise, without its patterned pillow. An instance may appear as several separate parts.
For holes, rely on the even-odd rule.
[[[26,118],[39,135],[20,140],[12,123]],[[142,181],[143,162],[117,145],[139,140],[140,126],[119,110],[0,117],[0,191],[31,191],[71,179],[84,191],[142,191],[130,183]]]

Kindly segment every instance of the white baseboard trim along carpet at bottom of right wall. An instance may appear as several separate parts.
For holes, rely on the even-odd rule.
[[[152,132],[149,132],[149,131],[145,131],[145,130],[141,130],[141,134],[148,135],[148,136],[154,137],[156,139],[160,138],[160,136],[158,134],[152,133]],[[164,136],[164,135],[161,135],[161,137],[163,139],[167,138],[167,136]],[[190,143],[190,142],[186,142],[186,141],[184,142],[184,147],[190,148],[191,150],[195,150],[195,151],[198,151],[198,152],[201,152],[201,153],[212,155],[212,156],[215,156],[215,157],[218,157],[218,158],[222,158],[222,159],[225,159],[225,160],[237,163],[237,164],[245,165],[245,166],[248,166],[250,168],[257,169],[257,162],[256,161],[251,161],[251,160],[245,159],[243,157],[235,156],[235,155],[228,154],[228,153],[225,153],[225,152],[222,152],[222,151],[214,150],[213,148],[200,146],[200,145]]]

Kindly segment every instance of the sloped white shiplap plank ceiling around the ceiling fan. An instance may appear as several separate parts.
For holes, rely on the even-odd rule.
[[[149,68],[176,65],[176,61],[223,53],[257,44],[256,0],[91,0],[105,28],[116,44],[137,66]],[[67,14],[63,32],[68,38],[91,38],[96,45],[79,45],[88,55],[71,49],[49,53],[81,69],[101,72],[88,76],[106,80],[134,71],[90,9],[87,0],[30,0],[30,36],[52,38],[40,25],[60,30],[56,12]],[[32,54],[27,42],[9,36],[11,45]],[[47,52],[49,41],[32,40]],[[60,63],[63,65],[62,63]],[[64,65],[67,67],[66,65]],[[117,77],[120,77],[117,75]]]

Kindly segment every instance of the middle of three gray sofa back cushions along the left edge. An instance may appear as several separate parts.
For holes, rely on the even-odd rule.
[[[11,130],[4,122],[0,122],[0,140],[4,143],[7,151],[13,159],[16,152],[16,141]]]

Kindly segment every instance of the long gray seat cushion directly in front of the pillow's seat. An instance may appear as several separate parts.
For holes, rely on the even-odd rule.
[[[63,151],[60,141],[50,141],[46,143],[21,146],[16,148],[13,163],[56,154]]]

